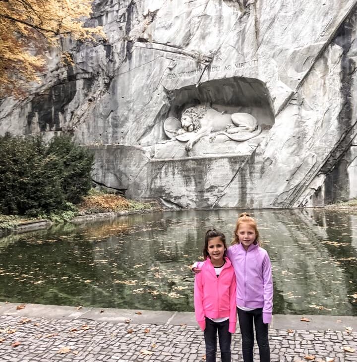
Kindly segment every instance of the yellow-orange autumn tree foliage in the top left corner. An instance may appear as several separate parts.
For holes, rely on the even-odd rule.
[[[20,95],[44,71],[44,50],[61,37],[94,40],[101,28],[86,28],[90,0],[0,0],[0,98]]]

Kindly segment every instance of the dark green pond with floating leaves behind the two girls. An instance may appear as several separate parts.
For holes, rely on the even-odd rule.
[[[193,310],[189,265],[241,210],[156,212],[0,239],[0,301]],[[274,279],[274,313],[357,316],[357,212],[251,210]]]

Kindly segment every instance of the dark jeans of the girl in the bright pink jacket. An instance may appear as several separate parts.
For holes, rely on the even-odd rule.
[[[206,328],[203,331],[206,342],[206,362],[216,362],[217,330],[222,362],[231,362],[232,334],[228,331],[229,319],[224,322],[214,322],[206,317]]]

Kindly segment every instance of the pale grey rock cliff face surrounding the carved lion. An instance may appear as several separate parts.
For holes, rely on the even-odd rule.
[[[356,18],[352,0],[96,0],[108,41],[63,44],[73,66],[49,52],[44,83],[2,101],[0,132],[74,132],[95,181],[176,208],[356,197]],[[202,105],[221,116],[168,137]],[[233,125],[242,113],[255,130]],[[216,133],[231,119],[254,136]]]

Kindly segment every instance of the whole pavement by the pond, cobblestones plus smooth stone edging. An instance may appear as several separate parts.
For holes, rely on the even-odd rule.
[[[205,355],[193,313],[17,305],[0,303],[1,362],[198,362]],[[308,356],[357,362],[357,317],[305,317],[310,322],[299,315],[273,316],[272,362],[308,361]],[[242,361],[240,349],[237,330],[232,361]],[[256,348],[254,360],[259,361]]]

